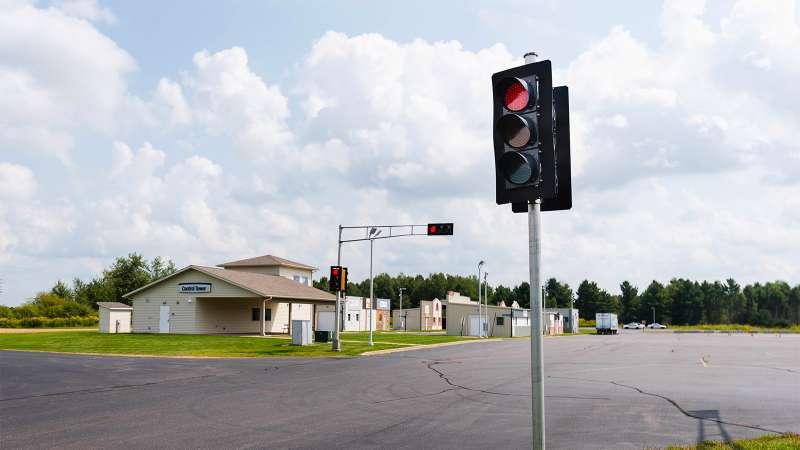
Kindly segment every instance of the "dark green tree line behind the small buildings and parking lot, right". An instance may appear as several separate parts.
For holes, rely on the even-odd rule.
[[[375,297],[388,298],[392,308],[398,308],[399,288],[403,291],[403,307],[419,306],[420,300],[445,298],[447,291],[457,291],[477,299],[478,280],[475,276],[433,273],[396,275],[382,273],[373,280]],[[322,277],[314,286],[328,290],[328,278]],[[800,284],[792,287],[785,281],[753,283],[742,287],[736,280],[693,281],[673,278],[668,283],[652,281],[644,290],[629,281],[619,285],[618,292],[608,292],[596,282],[584,280],[573,289],[556,278],[544,286],[545,306],[566,308],[574,305],[581,318],[593,320],[595,313],[619,315],[621,323],[655,321],[672,325],[748,324],[760,326],[789,326],[800,324]],[[369,279],[351,282],[347,295],[369,296]],[[488,287],[488,301],[519,302],[530,307],[530,285],[497,285]]]

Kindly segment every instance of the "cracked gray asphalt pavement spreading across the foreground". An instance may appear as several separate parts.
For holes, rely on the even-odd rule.
[[[530,448],[530,342],[325,359],[0,352],[0,448]],[[547,444],[800,432],[800,335],[545,340]]]

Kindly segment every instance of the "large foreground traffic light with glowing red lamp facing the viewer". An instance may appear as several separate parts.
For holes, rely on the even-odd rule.
[[[550,61],[492,75],[498,205],[557,195]]]

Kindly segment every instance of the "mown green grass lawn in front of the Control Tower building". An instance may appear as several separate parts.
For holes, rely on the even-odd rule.
[[[294,346],[288,337],[198,336],[181,334],[100,334],[96,331],[0,334],[0,350],[107,353],[157,356],[341,356],[373,350],[405,348],[463,340],[458,336],[418,336],[375,333],[375,345],[367,345],[368,333],[342,333],[342,351],[331,344]]]

